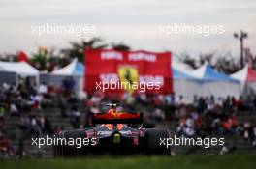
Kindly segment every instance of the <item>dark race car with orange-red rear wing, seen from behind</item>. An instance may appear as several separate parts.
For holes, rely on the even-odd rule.
[[[95,127],[63,130],[59,139],[73,140],[74,144],[59,144],[58,156],[93,154],[147,154],[170,155],[170,148],[160,144],[160,138],[169,138],[167,128],[144,128],[143,113],[118,112],[116,103],[108,104],[107,113],[92,114]],[[137,124],[139,127],[134,127]],[[80,140],[80,141],[77,141]],[[78,142],[82,144],[78,146]]]

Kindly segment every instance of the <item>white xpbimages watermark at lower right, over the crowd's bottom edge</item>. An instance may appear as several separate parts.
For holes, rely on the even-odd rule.
[[[166,148],[173,146],[202,146],[208,149],[212,146],[223,146],[225,144],[225,138],[215,138],[215,137],[169,137],[169,138],[159,138],[159,145]]]

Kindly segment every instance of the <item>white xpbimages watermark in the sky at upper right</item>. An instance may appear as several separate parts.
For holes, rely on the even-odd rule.
[[[208,37],[210,35],[224,34],[224,25],[188,25],[188,24],[170,24],[159,25],[159,33],[163,36],[171,36],[177,34],[185,35],[203,35]]]

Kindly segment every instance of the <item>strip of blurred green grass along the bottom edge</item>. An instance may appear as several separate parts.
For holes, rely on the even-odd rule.
[[[1,169],[246,169],[256,168],[256,155],[178,155],[178,156],[94,156],[59,159],[1,159]]]

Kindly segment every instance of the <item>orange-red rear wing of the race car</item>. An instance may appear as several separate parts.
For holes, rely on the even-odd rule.
[[[92,124],[142,124],[143,113],[92,114]]]

